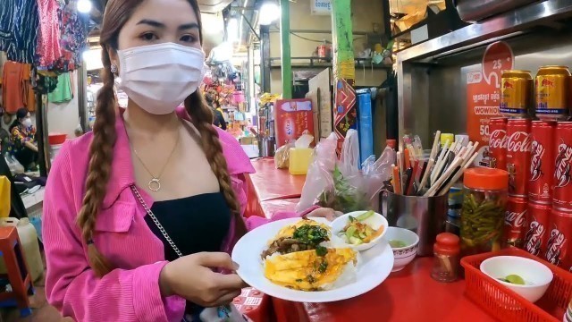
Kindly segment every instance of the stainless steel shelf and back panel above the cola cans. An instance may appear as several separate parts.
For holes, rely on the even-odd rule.
[[[532,29],[569,16],[572,0],[530,4],[398,53],[400,136],[416,133],[430,145],[433,131],[466,132],[467,72],[480,70],[486,45],[496,40],[509,42],[517,69],[572,66],[569,31]]]

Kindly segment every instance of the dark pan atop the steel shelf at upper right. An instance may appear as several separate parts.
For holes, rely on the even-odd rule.
[[[463,21],[480,21],[495,14],[533,3],[535,0],[457,0],[458,16]]]

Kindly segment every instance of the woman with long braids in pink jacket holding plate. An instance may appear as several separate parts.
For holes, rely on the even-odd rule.
[[[94,129],[63,146],[46,186],[46,295],[63,316],[194,321],[245,286],[216,272],[237,268],[228,254],[246,232],[253,168],[197,91],[199,17],[196,0],[107,3]]]

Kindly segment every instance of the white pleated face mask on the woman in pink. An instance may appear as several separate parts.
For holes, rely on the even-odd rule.
[[[117,85],[150,114],[169,114],[197,91],[205,53],[174,43],[119,50]]]

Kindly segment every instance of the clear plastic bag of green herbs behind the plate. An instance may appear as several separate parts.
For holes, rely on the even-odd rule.
[[[340,161],[335,155],[336,144],[337,138],[331,135],[316,148],[297,211],[313,205],[342,213],[371,209],[375,197],[389,182],[396,159],[393,149],[385,148],[377,160],[368,158],[360,170],[357,131],[348,131]]]

